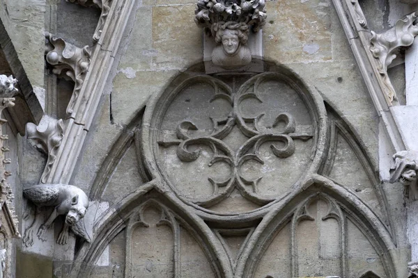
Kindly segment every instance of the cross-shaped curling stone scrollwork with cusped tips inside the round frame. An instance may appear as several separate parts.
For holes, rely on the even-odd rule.
[[[295,140],[307,141],[314,138],[313,127],[301,127],[292,113],[274,109],[278,115],[272,120],[264,120],[266,113],[263,111],[254,112],[258,113],[254,117],[249,117],[242,111],[242,106],[246,101],[270,105],[263,101],[259,93],[261,83],[268,78],[268,75],[262,75],[256,80],[253,79],[249,85],[242,85],[236,93],[232,93],[231,89],[222,83],[212,82],[215,95],[210,101],[217,99],[222,99],[224,103],[226,101],[231,107],[226,117],[210,117],[212,122],[210,130],[203,127],[199,129],[198,124],[185,119],[178,123],[174,140],[163,138],[158,141],[159,145],[164,148],[177,146],[176,154],[180,161],[186,163],[197,161],[203,152],[202,146],[206,146],[212,152],[208,166],[211,167],[217,163],[229,165],[231,170],[224,179],[208,178],[213,186],[212,196],[197,199],[195,204],[211,206],[228,197],[235,188],[254,204],[263,205],[271,202],[274,198],[263,195],[258,188],[258,183],[263,177],[247,177],[246,173],[242,172],[243,166],[246,163],[264,165],[265,159],[263,159],[261,149],[265,144],[270,145],[270,151],[267,152],[271,152],[277,159],[284,159],[295,154],[297,149]],[[226,138],[231,136],[235,126],[246,139],[241,144],[231,145]],[[263,152],[265,153],[266,150],[263,149]]]

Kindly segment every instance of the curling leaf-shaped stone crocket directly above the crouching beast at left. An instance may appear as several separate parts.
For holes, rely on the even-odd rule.
[[[38,143],[36,147],[48,156],[47,165],[45,166],[45,170],[40,179],[42,183],[45,183],[49,177],[49,173],[51,172],[52,165],[54,165],[61,141],[63,140],[63,120],[53,119],[49,122],[45,131],[40,131],[38,126],[28,123],[26,125],[26,131],[28,139],[36,140]]]

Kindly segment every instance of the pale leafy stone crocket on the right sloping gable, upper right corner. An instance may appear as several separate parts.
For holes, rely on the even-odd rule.
[[[370,51],[374,58],[378,60],[378,72],[382,76],[387,88],[387,98],[390,102],[397,100],[395,89],[387,75],[387,67],[396,58],[396,51],[399,47],[409,47],[415,36],[418,34],[418,26],[414,24],[417,13],[407,15],[404,19],[399,19],[395,26],[377,34],[371,31]]]

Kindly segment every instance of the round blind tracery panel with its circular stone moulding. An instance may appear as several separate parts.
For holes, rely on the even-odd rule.
[[[151,103],[143,129],[148,168],[199,209],[254,211],[318,171],[325,108],[289,70],[193,76]]]

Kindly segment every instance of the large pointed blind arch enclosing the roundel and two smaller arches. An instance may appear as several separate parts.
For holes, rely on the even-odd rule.
[[[354,133],[297,74],[258,63],[201,63],[150,99],[134,138],[149,182],[98,217],[75,276],[398,277]]]

